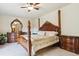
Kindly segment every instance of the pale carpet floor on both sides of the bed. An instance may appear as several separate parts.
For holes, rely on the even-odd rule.
[[[36,53],[37,56],[77,56],[77,54],[66,51],[59,47],[49,47]],[[17,43],[0,45],[0,56],[28,56],[27,51]]]

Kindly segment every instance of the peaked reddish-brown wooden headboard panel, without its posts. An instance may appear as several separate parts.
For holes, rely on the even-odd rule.
[[[52,24],[49,21],[46,21],[40,28],[40,31],[58,31],[59,27]]]

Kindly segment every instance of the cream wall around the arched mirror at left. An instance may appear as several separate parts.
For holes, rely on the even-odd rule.
[[[19,19],[23,24],[23,31],[27,30],[27,19],[12,17],[12,16],[0,16],[0,32],[11,32],[10,24],[14,19]]]

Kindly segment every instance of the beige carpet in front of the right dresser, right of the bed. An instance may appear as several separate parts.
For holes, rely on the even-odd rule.
[[[37,56],[78,56],[75,53],[66,51],[59,47],[50,47],[37,52]]]

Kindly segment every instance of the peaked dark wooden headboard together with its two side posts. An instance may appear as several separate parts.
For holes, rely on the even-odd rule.
[[[58,10],[58,26],[50,23],[49,21],[46,21],[41,27],[40,27],[40,18],[38,19],[38,27],[40,31],[57,31],[58,36],[61,36],[61,10]]]

